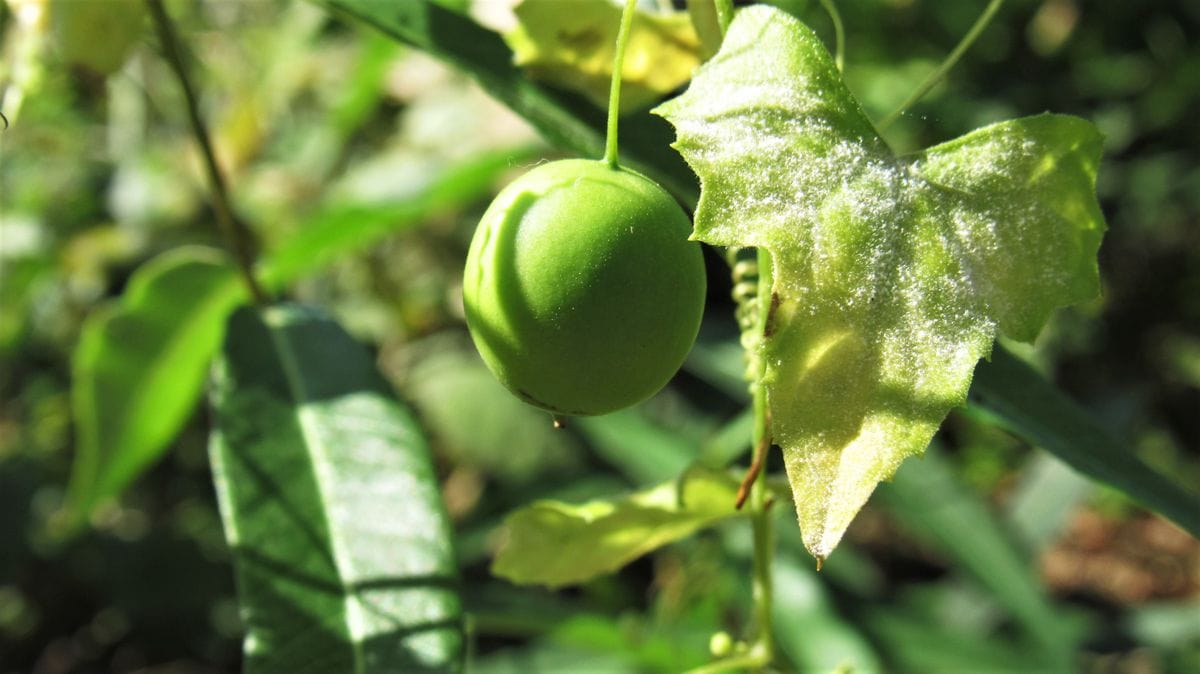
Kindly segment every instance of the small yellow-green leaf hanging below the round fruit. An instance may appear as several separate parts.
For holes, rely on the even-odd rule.
[[[518,584],[572,585],[738,514],[737,480],[692,468],[678,480],[620,498],[571,505],[536,501],[505,520],[492,573]]]

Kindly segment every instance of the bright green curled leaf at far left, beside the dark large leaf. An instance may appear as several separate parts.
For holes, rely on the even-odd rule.
[[[115,306],[88,317],[72,373],[68,529],[120,494],[175,438],[200,396],[224,319],[245,296],[224,254],[181,247],[143,265]]]

